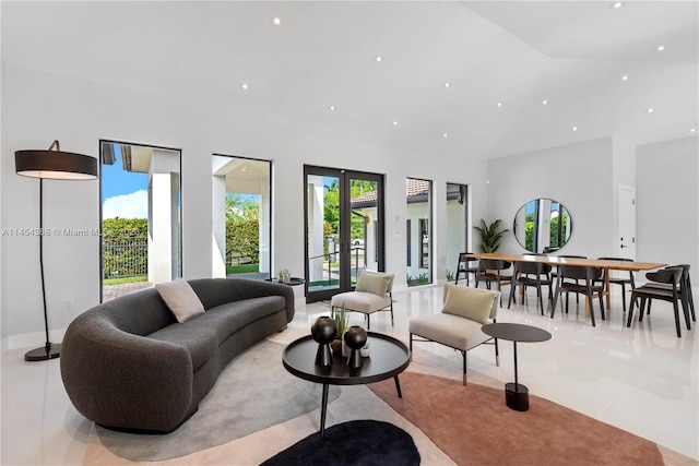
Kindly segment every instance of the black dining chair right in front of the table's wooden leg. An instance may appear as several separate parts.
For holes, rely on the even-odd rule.
[[[595,326],[593,306],[593,298],[595,295],[600,299],[600,313],[602,314],[602,320],[605,320],[604,300],[602,299],[604,286],[596,285],[600,277],[602,277],[602,268],[600,267],[564,264],[558,265],[558,283],[556,285],[556,295],[554,296],[550,316],[553,318],[556,313],[556,303],[558,302],[561,292],[566,294],[566,313],[568,313],[568,298],[571,292],[574,292],[576,296],[585,296],[585,304],[590,308],[592,326]],[[572,279],[573,282],[566,282],[566,279]],[[580,283],[581,280],[584,283]]]

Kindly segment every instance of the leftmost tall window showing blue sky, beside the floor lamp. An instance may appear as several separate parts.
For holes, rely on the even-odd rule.
[[[100,142],[102,300],[181,277],[180,152]]]

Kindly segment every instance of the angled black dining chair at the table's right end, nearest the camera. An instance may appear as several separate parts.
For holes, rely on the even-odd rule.
[[[670,288],[643,285],[631,291],[631,308],[629,309],[629,316],[626,321],[626,326],[631,326],[631,318],[633,316],[633,306],[636,304],[636,298],[639,298],[641,301],[638,314],[639,322],[643,321],[643,310],[645,307],[645,302],[650,303],[650,301],[653,299],[662,299],[663,301],[673,303],[673,310],[675,311],[675,331],[677,332],[677,337],[682,337],[682,331],[679,330],[679,302],[683,300],[683,298],[679,296],[682,274],[682,266],[671,266],[656,272],[647,273],[645,278],[648,278],[650,282],[654,284],[667,285],[670,286]],[[687,330],[691,330],[691,324],[689,323],[689,312],[684,306],[683,313],[685,314],[685,323],[687,325]]]

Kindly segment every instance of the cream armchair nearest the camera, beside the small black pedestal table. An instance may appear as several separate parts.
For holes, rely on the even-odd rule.
[[[435,342],[460,350],[463,357],[463,384],[466,385],[466,351],[494,339],[483,333],[481,327],[495,322],[499,302],[499,291],[446,285],[440,313],[410,320],[411,357],[413,340]],[[416,336],[419,338],[415,338]],[[495,363],[500,366],[498,340],[495,338],[494,343]]]

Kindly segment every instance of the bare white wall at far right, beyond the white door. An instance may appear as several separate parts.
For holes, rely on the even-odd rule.
[[[699,284],[699,138],[639,146],[636,151],[637,255],[690,264]]]

